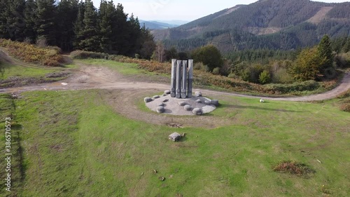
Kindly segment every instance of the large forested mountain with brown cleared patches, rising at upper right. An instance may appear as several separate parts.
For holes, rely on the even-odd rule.
[[[324,34],[350,35],[350,2],[260,0],[238,5],[172,29],[152,31],[167,47],[192,50],[208,43],[221,52],[313,46]]]

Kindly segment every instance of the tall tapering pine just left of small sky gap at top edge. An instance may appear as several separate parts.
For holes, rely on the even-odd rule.
[[[79,46],[82,50],[101,51],[99,47],[99,24],[97,22],[97,12],[91,0],[85,1],[84,29],[81,32],[83,40]]]

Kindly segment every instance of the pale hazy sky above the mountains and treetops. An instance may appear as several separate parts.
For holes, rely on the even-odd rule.
[[[92,0],[99,7],[100,0]],[[123,4],[125,13],[134,13],[141,20],[187,20],[192,21],[206,15],[232,8],[237,4],[251,4],[257,0],[113,0],[114,4]],[[322,1],[322,0],[321,0]],[[346,1],[323,0],[322,2],[340,3]]]

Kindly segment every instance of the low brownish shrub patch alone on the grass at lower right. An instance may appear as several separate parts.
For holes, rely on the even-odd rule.
[[[309,168],[304,163],[297,163],[295,161],[282,161],[274,166],[275,172],[289,173],[291,175],[308,175],[313,174],[315,171]]]

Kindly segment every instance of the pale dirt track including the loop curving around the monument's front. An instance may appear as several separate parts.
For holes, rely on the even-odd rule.
[[[139,79],[131,79],[121,74],[111,71],[106,67],[85,65],[78,62],[80,69],[64,81],[55,83],[42,83],[35,86],[23,86],[19,88],[0,89],[0,93],[21,93],[32,90],[85,90],[102,89],[102,97],[119,114],[127,118],[156,125],[181,125],[183,127],[203,127],[216,128],[228,125],[235,119],[228,119],[216,116],[164,116],[162,114],[151,113],[139,109],[138,104],[146,96],[153,96],[157,93],[169,89],[169,84],[146,83]],[[66,86],[62,85],[66,84]],[[344,75],[342,83],[337,88],[327,93],[319,95],[309,95],[304,97],[257,97],[251,95],[241,95],[235,93],[223,93],[214,90],[200,90],[205,96],[224,99],[223,95],[233,95],[237,97],[264,98],[265,100],[284,101],[313,101],[327,100],[336,97],[340,93],[350,89],[350,73]],[[195,89],[199,90],[199,89]]]

